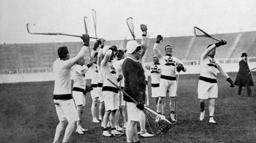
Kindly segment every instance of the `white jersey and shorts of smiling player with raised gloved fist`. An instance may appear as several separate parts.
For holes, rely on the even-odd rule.
[[[166,96],[167,89],[169,90],[169,96],[175,97],[176,96],[176,66],[177,64],[182,64],[182,62],[177,59],[176,57],[169,56],[169,55],[162,55],[162,53],[158,49],[158,43],[154,45],[154,52],[159,58],[159,63],[161,64],[161,77],[160,77],[160,95],[161,97]],[[183,65],[183,64],[182,64]],[[184,67],[184,71],[185,71]]]

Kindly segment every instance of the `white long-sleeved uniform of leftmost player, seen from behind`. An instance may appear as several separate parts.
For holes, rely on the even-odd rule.
[[[53,101],[59,121],[68,120],[68,122],[73,122],[80,120],[71,94],[70,69],[79,59],[84,56],[86,48],[86,46],[83,46],[80,52],[72,59],[60,60],[60,58],[58,58],[53,63],[53,73],[55,79]]]

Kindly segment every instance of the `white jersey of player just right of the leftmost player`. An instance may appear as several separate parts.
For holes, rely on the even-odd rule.
[[[75,65],[73,70],[74,75],[74,85],[73,87],[79,87],[85,89],[86,86],[86,78],[85,73],[89,68],[87,66]]]

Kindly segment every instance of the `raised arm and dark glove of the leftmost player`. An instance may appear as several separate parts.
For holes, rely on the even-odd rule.
[[[71,68],[77,61],[79,61],[81,58],[83,58],[86,53],[86,50],[89,46],[90,37],[89,37],[89,35],[83,34],[83,36],[81,38],[84,41],[84,45],[81,48],[81,50],[79,51],[79,53],[74,58],[65,61],[65,64],[66,64],[65,66],[68,68]]]

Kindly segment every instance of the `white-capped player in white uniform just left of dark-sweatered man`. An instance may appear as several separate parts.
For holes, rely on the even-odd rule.
[[[115,113],[119,109],[119,95],[118,89],[108,81],[108,78],[111,79],[111,81],[114,81],[115,84],[118,83],[118,81],[123,79],[122,75],[119,75],[118,78],[116,78],[116,70],[111,63],[111,61],[114,59],[115,52],[117,51],[116,46],[104,46],[102,49],[102,54],[104,55],[104,59],[101,61],[101,72],[103,76],[103,87],[102,87],[102,96],[104,100],[105,105],[105,114],[103,117],[103,136],[104,137],[111,137],[112,135],[118,136],[121,133],[116,130],[115,127]],[[110,119],[111,122],[111,134],[108,132],[107,124],[108,120]]]

